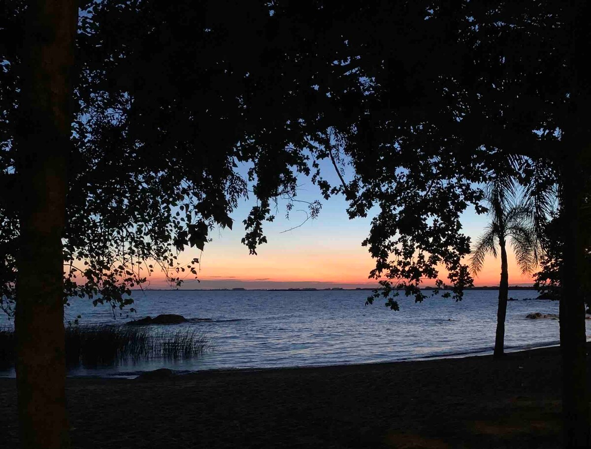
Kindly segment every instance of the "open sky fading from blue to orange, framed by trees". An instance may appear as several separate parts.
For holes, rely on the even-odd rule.
[[[241,171],[246,167],[241,167]],[[330,170],[333,170],[330,167]],[[324,170],[331,173],[330,170]],[[345,173],[345,179],[347,173]],[[329,181],[335,182],[335,179]],[[336,178],[336,175],[335,175]],[[196,248],[184,251],[178,259],[200,259],[199,281],[187,276],[183,289],[217,288],[368,288],[376,286],[368,279],[374,261],[368,249],[361,246],[370,228],[371,216],[350,220],[343,198],[324,200],[319,189],[307,177],[298,177],[297,199],[322,202],[322,211],[316,219],[306,220],[306,205],[296,203],[289,219],[285,218],[285,201],[280,201],[275,211],[275,220],[265,223],[267,244],[257,248],[252,256],[241,243],[244,235],[242,220],[246,218],[253,200],[245,200],[230,216],[234,219],[233,230],[215,229],[210,232],[212,242],[203,252]],[[478,237],[486,225],[486,215],[476,215],[473,210],[463,214],[463,231],[472,238]],[[302,224],[302,222],[304,222]],[[300,227],[297,227],[300,225]],[[297,227],[297,228],[294,228]],[[291,229],[294,228],[294,229]],[[290,230],[291,229],[291,230]],[[501,261],[489,256],[482,272],[475,278],[475,286],[495,286],[499,283]],[[163,273],[148,277],[148,288],[170,288]],[[509,248],[509,285],[531,285],[529,275],[522,275]],[[432,282],[424,283],[433,285]]]

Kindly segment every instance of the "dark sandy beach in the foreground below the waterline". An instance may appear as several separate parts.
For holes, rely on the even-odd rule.
[[[375,365],[69,379],[75,448],[558,447],[558,348]],[[0,447],[17,446],[0,379]],[[2,444],[2,440],[7,444]]]

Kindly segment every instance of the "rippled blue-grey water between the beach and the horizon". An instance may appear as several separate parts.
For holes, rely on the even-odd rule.
[[[366,291],[187,291],[134,292],[137,314],[116,319],[108,306],[93,308],[74,299],[66,319],[82,315],[81,324],[122,324],[146,315],[180,314],[211,318],[177,325],[207,334],[215,350],[191,360],[151,360],[119,366],[73,369],[74,376],[134,376],[168,367],[206,370],[256,367],[322,366],[446,357],[492,351],[495,341],[496,290],[470,290],[461,302],[401,297],[400,312],[379,301],[365,306]],[[506,348],[558,343],[558,321],[527,319],[531,312],[557,314],[554,301],[535,298],[534,290],[511,290],[506,319]],[[0,327],[6,325],[0,317]],[[587,322],[589,324],[589,322]],[[0,375],[14,375],[0,372]]]

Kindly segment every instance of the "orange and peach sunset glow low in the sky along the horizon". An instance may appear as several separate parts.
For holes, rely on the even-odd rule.
[[[222,248],[220,248],[222,249]],[[187,253],[180,260],[192,256]],[[261,248],[258,256],[251,256],[245,247],[232,253],[217,250],[215,242],[201,254],[199,280],[191,275],[185,278],[182,288],[304,288],[343,287],[366,288],[376,285],[368,279],[374,261],[361,245],[323,251],[302,250],[297,245],[277,248],[269,244]],[[522,274],[515,256],[509,251],[509,285],[531,285],[531,274]],[[197,256],[198,257],[198,256]],[[475,286],[496,286],[501,272],[500,260],[487,257],[485,266],[474,279]],[[445,271],[440,271],[445,276]],[[164,273],[153,273],[148,278],[151,288],[167,288]],[[425,282],[425,286],[433,282]]]

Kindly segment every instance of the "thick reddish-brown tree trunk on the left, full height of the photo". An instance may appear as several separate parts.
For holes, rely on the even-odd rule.
[[[31,1],[25,12],[15,136],[22,189],[15,332],[23,448],[69,447],[61,237],[77,12],[73,0]]]

